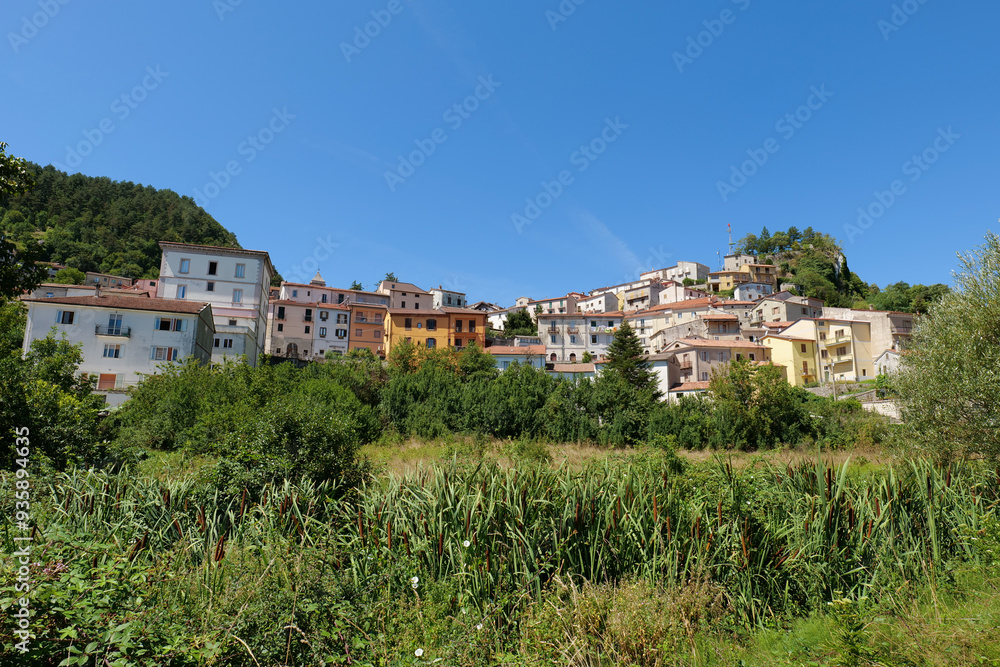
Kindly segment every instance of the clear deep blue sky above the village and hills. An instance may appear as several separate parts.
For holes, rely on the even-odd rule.
[[[732,224],[950,283],[998,226],[998,24],[995,0],[7,0],[0,140],[196,197],[286,279],[508,304],[715,268]]]

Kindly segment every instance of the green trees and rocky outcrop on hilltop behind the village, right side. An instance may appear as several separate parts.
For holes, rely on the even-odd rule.
[[[799,231],[793,226],[774,234],[764,227],[760,235],[747,234],[740,239],[736,250],[778,266],[781,281],[798,285],[805,296],[823,299],[828,306],[926,313],[949,291],[942,284],[898,282],[884,290],[874,283],[869,285],[851,272],[836,239],[812,227]]]

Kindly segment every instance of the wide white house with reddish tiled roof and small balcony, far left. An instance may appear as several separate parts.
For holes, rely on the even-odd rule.
[[[125,389],[157,372],[157,366],[194,357],[212,358],[215,336],[212,306],[192,300],[119,295],[51,297],[24,300],[31,342],[55,327],[72,344],[82,345],[80,372],[97,377],[98,391],[110,405],[125,401]]]

